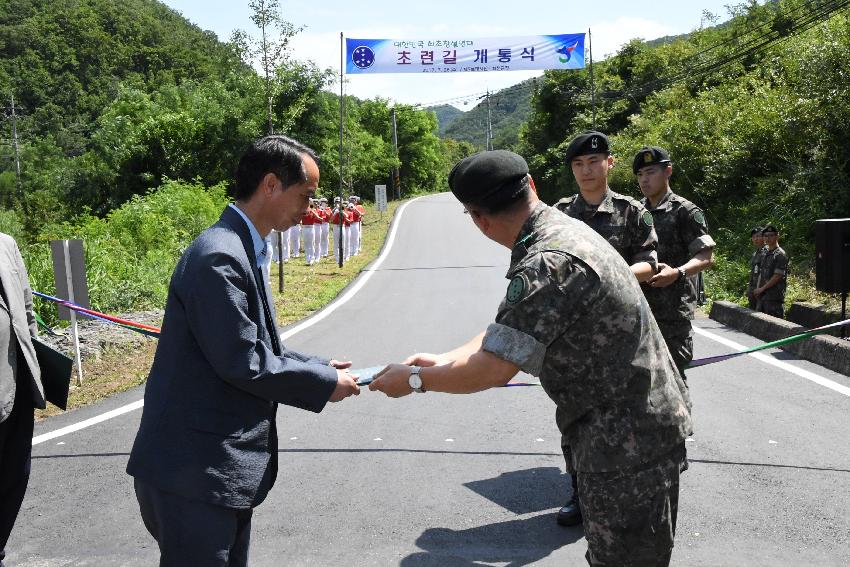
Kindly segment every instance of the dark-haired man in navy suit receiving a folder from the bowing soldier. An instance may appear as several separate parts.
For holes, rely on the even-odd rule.
[[[174,270],[127,472],[160,565],[247,565],[253,508],[277,476],[277,404],[358,394],[351,363],[286,349],[263,273],[272,229],[298,223],[318,157],[284,136],[242,155],[236,203]]]

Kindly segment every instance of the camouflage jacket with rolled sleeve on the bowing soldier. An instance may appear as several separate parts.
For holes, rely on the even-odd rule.
[[[539,376],[578,471],[651,461],[691,433],[690,400],[631,270],[585,224],[539,203],[514,245],[482,348]]]

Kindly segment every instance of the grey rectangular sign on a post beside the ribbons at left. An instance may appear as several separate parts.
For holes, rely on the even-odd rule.
[[[50,253],[53,258],[53,279],[56,283],[57,297],[90,309],[83,241],[51,240]],[[83,366],[80,357],[80,338],[77,333],[77,314],[62,305],[59,305],[58,309],[59,318],[71,322],[71,339],[74,341],[74,357],[77,365],[77,386],[81,386]]]

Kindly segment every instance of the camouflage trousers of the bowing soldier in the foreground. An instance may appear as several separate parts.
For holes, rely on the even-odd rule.
[[[638,469],[578,473],[593,567],[666,567],[673,553],[684,443]]]

